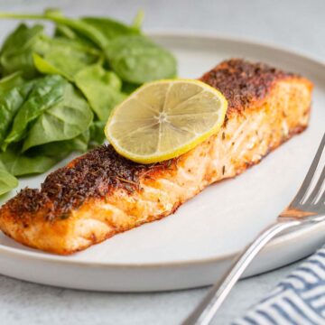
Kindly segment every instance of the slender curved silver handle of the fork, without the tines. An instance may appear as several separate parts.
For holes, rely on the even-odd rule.
[[[182,325],[208,325],[241,274],[244,273],[246,267],[265,244],[284,229],[296,227],[301,223],[300,220],[284,220],[265,228],[251,244],[246,246],[243,253],[237,256],[228,272],[224,274],[218,283],[213,285],[199,306],[182,322]]]

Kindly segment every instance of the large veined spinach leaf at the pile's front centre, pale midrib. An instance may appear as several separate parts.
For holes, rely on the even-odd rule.
[[[42,112],[23,142],[23,152],[40,144],[69,140],[85,132],[93,120],[88,103],[69,83],[63,98]]]

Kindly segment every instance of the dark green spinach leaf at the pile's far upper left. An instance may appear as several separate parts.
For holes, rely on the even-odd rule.
[[[22,23],[9,34],[0,54],[1,70],[5,76],[18,70],[23,72],[26,79],[37,75],[32,52],[38,47],[42,32],[42,25],[27,27]]]

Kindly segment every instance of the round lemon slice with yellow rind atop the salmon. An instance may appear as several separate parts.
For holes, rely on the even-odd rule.
[[[136,163],[157,163],[182,153],[218,132],[228,103],[199,80],[144,84],[118,105],[105,134],[117,153]]]

